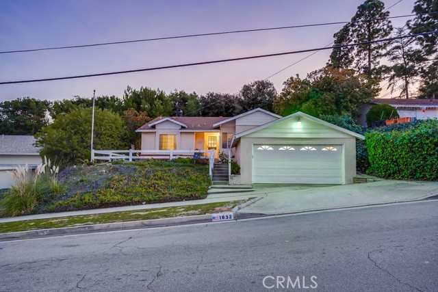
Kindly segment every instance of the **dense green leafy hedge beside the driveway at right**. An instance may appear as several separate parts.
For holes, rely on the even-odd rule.
[[[384,178],[438,180],[438,120],[404,131],[365,134],[370,168]]]

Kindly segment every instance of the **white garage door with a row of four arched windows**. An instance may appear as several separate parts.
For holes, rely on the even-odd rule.
[[[253,183],[342,183],[341,145],[253,146]]]

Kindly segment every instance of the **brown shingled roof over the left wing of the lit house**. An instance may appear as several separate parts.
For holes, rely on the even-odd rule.
[[[214,124],[227,120],[228,117],[159,117],[144,124],[136,132],[151,131],[160,122],[170,121],[184,127],[182,131],[214,131]]]

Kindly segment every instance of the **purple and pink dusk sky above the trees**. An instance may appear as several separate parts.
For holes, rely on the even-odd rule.
[[[389,7],[398,0],[385,0]],[[349,21],[361,0],[103,1],[0,0],[0,51]],[[391,8],[411,14],[414,0]],[[393,20],[402,26],[408,18]],[[86,75],[324,47],[342,25],[159,40],[103,47],[0,54],[0,82]],[[329,59],[321,51],[270,78],[278,92],[292,75],[305,77]],[[127,85],[169,93],[235,93],[309,53],[107,77],[0,85],[0,101],[31,96],[49,101],[73,96],[123,96]],[[395,94],[396,95],[396,94]],[[389,97],[389,96],[387,96]]]

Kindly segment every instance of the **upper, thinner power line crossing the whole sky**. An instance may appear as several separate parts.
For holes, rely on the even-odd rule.
[[[410,16],[417,16],[417,15],[426,15],[426,14],[436,14],[438,12],[428,12],[423,14],[406,14],[406,15],[400,15],[400,16],[391,16],[388,18],[374,18],[369,19],[367,21],[377,21],[381,19],[389,19],[389,18],[404,18],[404,17],[410,17]],[[357,21],[360,22],[360,21]],[[346,24],[346,23],[352,23],[351,21],[336,21],[331,23],[313,23],[309,25],[290,25],[285,27],[267,27],[267,28],[261,28],[261,29],[242,29],[242,30],[235,30],[235,31],[219,31],[219,32],[212,32],[207,34],[188,34],[183,36],[166,36],[166,37],[159,37],[159,38],[144,38],[141,40],[125,40],[125,41],[119,41],[119,42],[99,42],[95,44],[79,44],[75,46],[64,46],[64,47],[47,47],[47,48],[40,48],[40,49],[25,49],[25,50],[14,50],[14,51],[0,51],[0,54],[9,54],[9,53],[29,53],[29,52],[36,52],[36,51],[49,51],[49,50],[60,50],[60,49],[77,49],[77,48],[86,48],[86,47],[99,47],[99,46],[108,46],[112,44],[130,44],[135,42],[151,42],[155,40],[174,40],[179,38],[194,38],[194,37],[200,37],[200,36],[218,36],[218,35],[224,35],[224,34],[242,34],[246,32],[255,32],[255,31],[271,31],[271,30],[279,30],[279,29],[294,29],[294,28],[301,28],[301,27],[318,27],[318,26],[324,26],[324,25],[339,25],[339,24]]]

